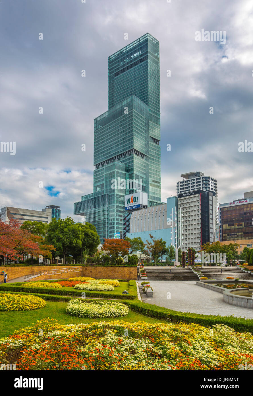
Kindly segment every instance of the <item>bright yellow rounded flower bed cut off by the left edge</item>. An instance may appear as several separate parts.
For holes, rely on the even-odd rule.
[[[31,294],[1,293],[0,311],[27,311],[47,305],[42,298]]]

